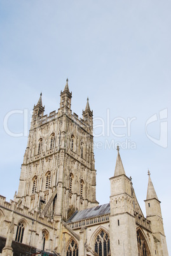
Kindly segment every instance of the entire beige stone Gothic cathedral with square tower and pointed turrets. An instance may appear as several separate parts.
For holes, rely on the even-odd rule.
[[[0,255],[168,256],[160,200],[148,172],[146,217],[116,150],[106,204],[96,200],[93,111],[71,111],[68,80],[58,111],[34,105],[18,192],[0,196]]]

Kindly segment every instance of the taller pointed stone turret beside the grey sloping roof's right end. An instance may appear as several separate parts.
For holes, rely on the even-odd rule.
[[[111,181],[110,196],[110,238],[111,256],[137,256],[137,232],[133,213],[132,182],[125,174],[120,157],[120,148],[114,176]]]

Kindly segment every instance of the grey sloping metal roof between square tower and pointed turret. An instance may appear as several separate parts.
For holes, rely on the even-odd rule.
[[[77,222],[110,213],[110,204],[102,204],[82,211],[76,211],[67,222]]]

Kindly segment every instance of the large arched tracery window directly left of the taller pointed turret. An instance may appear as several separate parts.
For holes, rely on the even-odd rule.
[[[110,250],[109,234],[105,231],[100,231],[95,238],[95,252],[99,256],[107,256]]]

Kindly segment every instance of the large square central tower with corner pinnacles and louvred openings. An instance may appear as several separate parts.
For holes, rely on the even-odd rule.
[[[41,96],[32,112],[17,202],[42,216],[67,220],[74,211],[98,204],[93,112],[87,101],[83,118],[72,113],[68,80],[57,113],[44,115]]]

